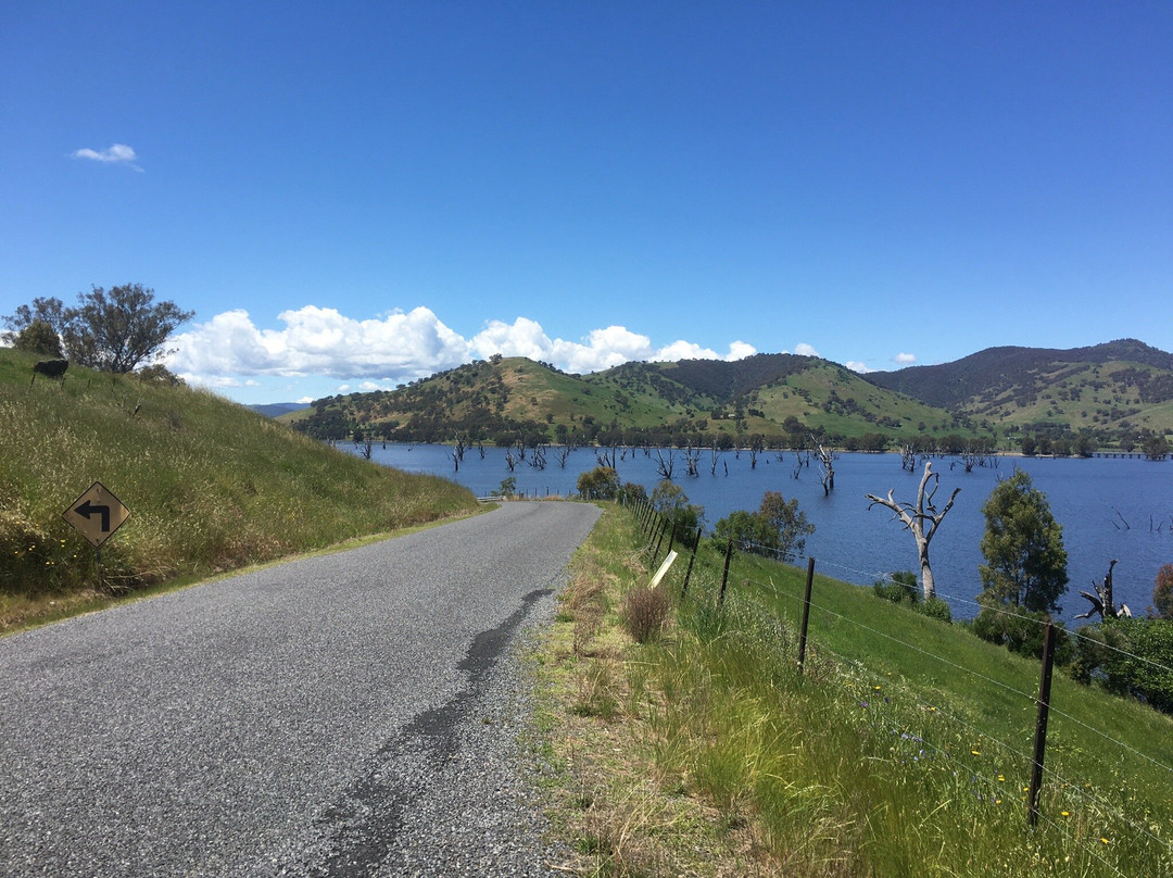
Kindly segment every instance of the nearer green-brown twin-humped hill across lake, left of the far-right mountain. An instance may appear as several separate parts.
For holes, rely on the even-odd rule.
[[[394,391],[317,400],[289,420],[323,439],[882,448],[914,433],[978,431],[816,357],[626,363],[588,376],[493,357]]]

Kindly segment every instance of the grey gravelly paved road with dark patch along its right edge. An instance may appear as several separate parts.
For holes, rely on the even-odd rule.
[[[507,504],[0,640],[0,874],[545,874],[499,658],[597,515]]]

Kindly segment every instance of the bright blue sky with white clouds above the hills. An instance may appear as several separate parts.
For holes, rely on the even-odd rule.
[[[501,351],[1173,349],[1168,2],[14,2],[0,315],[246,403]]]

